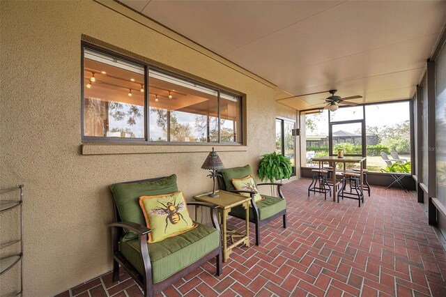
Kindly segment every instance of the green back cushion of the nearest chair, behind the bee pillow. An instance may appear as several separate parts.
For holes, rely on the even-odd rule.
[[[110,186],[116,208],[123,222],[134,222],[146,226],[146,219],[139,206],[139,197],[169,194],[178,191],[176,175],[172,174],[159,181],[145,183],[115,183]],[[123,241],[138,238],[134,231],[125,230]]]

